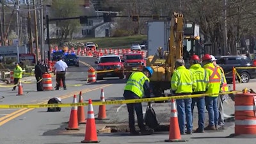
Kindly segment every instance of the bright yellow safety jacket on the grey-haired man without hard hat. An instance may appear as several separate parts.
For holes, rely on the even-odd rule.
[[[175,93],[192,93],[193,74],[184,66],[178,67],[173,72],[171,89]]]

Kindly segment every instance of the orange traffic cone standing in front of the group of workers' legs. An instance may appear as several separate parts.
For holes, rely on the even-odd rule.
[[[170,129],[169,129],[169,140],[164,140],[165,142],[185,142],[181,140],[179,121],[177,115],[177,109],[174,99],[171,100],[171,116],[170,116]]]

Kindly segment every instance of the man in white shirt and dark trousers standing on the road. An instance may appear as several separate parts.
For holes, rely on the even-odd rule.
[[[65,63],[65,61],[62,61],[61,56],[58,57],[58,61],[54,65],[55,72],[56,74],[56,81],[57,81],[57,86],[55,90],[59,90],[60,88],[60,81],[62,81],[63,84],[63,89],[67,90],[66,83],[65,83],[65,74],[67,72],[68,65]]]

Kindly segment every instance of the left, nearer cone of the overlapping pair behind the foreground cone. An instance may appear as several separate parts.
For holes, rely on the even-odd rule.
[[[76,95],[74,95],[73,104],[76,104]],[[79,130],[78,129],[78,121],[77,121],[77,106],[72,106],[70,117],[68,121],[68,127],[66,127],[67,130]]]

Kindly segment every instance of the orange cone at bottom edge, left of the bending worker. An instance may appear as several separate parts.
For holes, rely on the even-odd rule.
[[[81,143],[99,143],[97,138],[97,129],[95,124],[94,112],[92,107],[92,99],[89,99],[87,122],[84,140]]]

